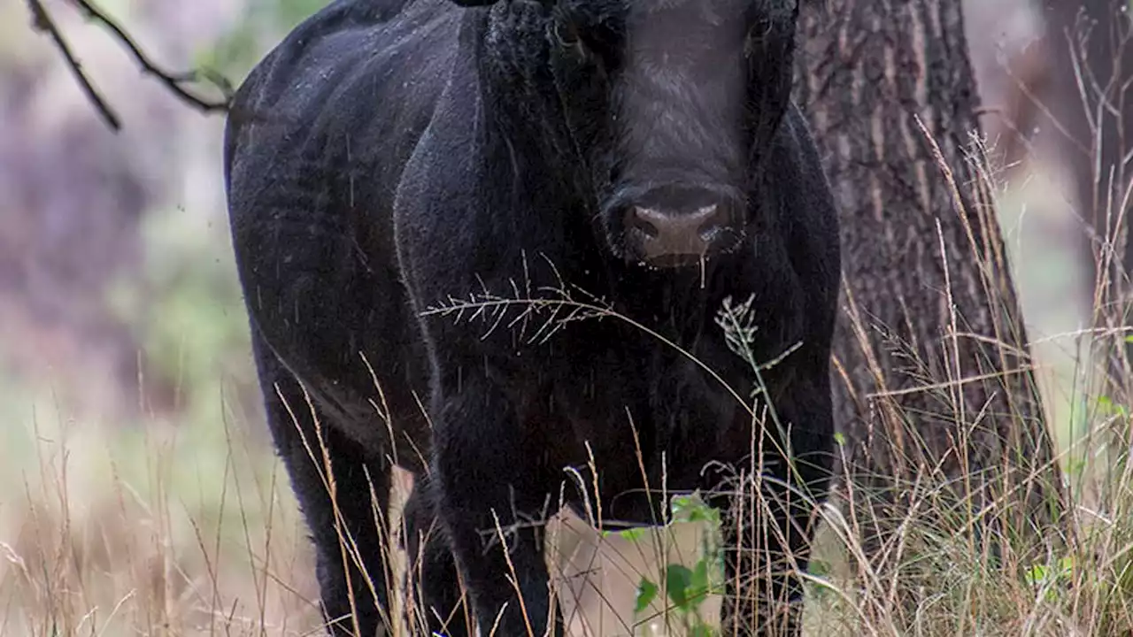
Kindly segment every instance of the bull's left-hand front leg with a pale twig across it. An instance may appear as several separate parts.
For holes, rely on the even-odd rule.
[[[480,635],[543,637],[548,620],[562,635],[559,613],[548,617],[543,453],[526,452],[528,432],[487,382],[466,377],[459,394],[438,397],[434,427],[437,512]]]

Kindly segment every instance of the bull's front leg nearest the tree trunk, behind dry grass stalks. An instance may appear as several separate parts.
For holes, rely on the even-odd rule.
[[[716,500],[723,509],[723,634],[729,637],[801,634],[800,574],[810,562],[833,464],[829,385],[825,374],[817,376],[799,382],[775,406],[778,424],[768,418],[757,427],[765,434],[757,451],[763,461],[736,467],[742,479],[725,485],[727,495]]]

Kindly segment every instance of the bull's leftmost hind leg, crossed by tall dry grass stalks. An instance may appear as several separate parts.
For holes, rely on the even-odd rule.
[[[272,439],[315,544],[330,631],[337,637],[392,635],[386,575],[390,542],[385,529],[378,528],[386,524],[389,464],[347,439],[317,407],[312,414],[295,379],[255,337],[253,346]],[[324,458],[330,458],[330,472]]]

